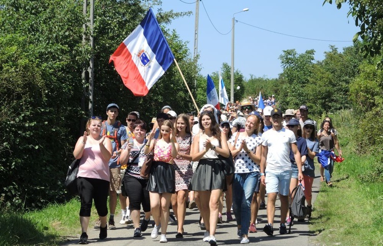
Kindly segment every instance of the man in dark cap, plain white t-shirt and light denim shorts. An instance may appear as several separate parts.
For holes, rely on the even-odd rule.
[[[267,195],[267,219],[268,224],[264,227],[264,232],[273,236],[273,223],[275,215],[275,201],[279,193],[281,203],[281,221],[279,233],[285,234],[286,215],[289,208],[289,193],[291,180],[290,149],[294,153],[294,159],[298,166],[298,179],[302,180],[302,161],[298,151],[297,140],[292,131],[283,128],[282,112],[280,109],[271,111],[271,122],[273,129],[262,134],[262,154],[260,161],[260,182],[266,185]],[[266,172],[265,166],[267,162]]]

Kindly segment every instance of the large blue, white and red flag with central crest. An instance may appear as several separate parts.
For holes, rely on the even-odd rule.
[[[157,19],[149,9],[136,29],[118,46],[109,59],[124,85],[135,96],[148,94],[150,88],[174,61]]]

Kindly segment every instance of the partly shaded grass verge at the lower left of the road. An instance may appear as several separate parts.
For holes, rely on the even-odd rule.
[[[0,214],[0,245],[58,245],[80,238],[79,210],[77,196],[65,204],[51,204],[38,211],[3,211]],[[89,227],[97,217],[93,205]]]

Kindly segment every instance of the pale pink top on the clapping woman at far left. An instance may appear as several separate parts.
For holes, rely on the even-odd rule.
[[[85,144],[77,177],[109,181],[109,160],[104,160],[99,144]]]

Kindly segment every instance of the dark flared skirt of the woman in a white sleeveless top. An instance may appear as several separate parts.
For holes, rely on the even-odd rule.
[[[190,180],[189,190],[227,190],[224,166],[220,159],[200,159]]]

